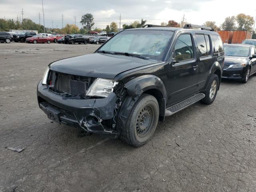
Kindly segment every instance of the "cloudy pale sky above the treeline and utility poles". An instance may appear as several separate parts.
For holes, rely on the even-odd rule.
[[[160,24],[175,20],[180,22],[184,16],[186,22],[202,25],[206,21],[215,21],[220,26],[228,16],[244,13],[256,16],[255,0],[43,0],[44,22],[46,27],[62,28],[67,23],[81,28],[81,16],[91,13],[94,27],[105,28],[111,22],[117,22],[121,14],[122,24],[130,24],[143,18],[147,24]],[[17,20],[17,16],[30,18],[43,24],[42,0],[0,0],[0,18]]]

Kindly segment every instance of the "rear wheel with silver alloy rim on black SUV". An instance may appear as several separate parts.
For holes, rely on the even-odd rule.
[[[211,90],[212,90],[212,84],[214,81],[216,81],[216,90],[215,90],[214,94],[212,94]],[[212,104],[212,102],[214,102],[214,100],[216,98],[216,95],[218,92],[218,87],[219,87],[219,77],[218,77],[218,75],[213,74],[209,81],[209,84],[206,88],[206,91],[204,93],[205,97],[201,100],[201,102],[204,104],[208,104],[208,105]]]

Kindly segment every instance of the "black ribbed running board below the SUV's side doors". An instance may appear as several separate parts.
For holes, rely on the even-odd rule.
[[[165,110],[165,116],[171,116],[172,114],[174,114],[174,113],[176,113],[176,112],[178,112],[178,111],[180,111],[180,110],[198,102],[199,100],[201,100],[204,97],[205,97],[205,94],[198,93],[198,94],[196,94],[196,95],[194,95],[194,96],[192,96],[192,97],[190,97],[190,98],[188,98],[188,99],[186,99],[182,102],[179,102],[179,103],[167,108]]]

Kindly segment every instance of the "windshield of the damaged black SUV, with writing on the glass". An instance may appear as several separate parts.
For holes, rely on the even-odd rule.
[[[138,54],[150,59],[162,58],[174,33],[165,30],[127,30],[108,40],[99,51]]]

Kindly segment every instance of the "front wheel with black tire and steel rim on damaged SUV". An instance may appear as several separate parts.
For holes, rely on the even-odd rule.
[[[135,147],[146,144],[156,130],[158,118],[158,101],[152,95],[143,94],[132,107],[126,126],[121,128],[121,139]]]

